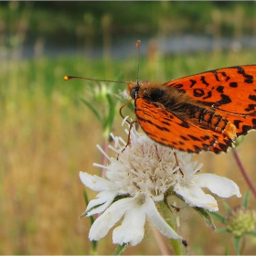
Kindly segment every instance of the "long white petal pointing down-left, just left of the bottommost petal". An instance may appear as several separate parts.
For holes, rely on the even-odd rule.
[[[130,201],[133,198],[123,198],[113,203],[102,215],[96,219],[90,229],[89,239],[100,240],[112,228],[112,226],[123,217],[125,211],[131,207]]]

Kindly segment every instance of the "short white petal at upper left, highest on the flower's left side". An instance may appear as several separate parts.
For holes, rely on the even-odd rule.
[[[88,173],[80,172],[80,180],[86,186],[94,191],[102,191],[110,189],[110,181],[101,178],[100,176],[91,176]]]

